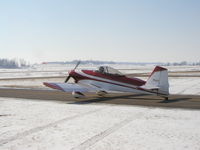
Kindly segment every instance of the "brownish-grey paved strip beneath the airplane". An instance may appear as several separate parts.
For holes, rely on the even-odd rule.
[[[82,105],[88,103],[107,103],[116,105],[200,109],[199,95],[170,95],[168,101],[164,100],[162,97],[143,94],[108,94],[106,97],[87,94],[86,98],[75,99],[72,97],[71,93],[54,90],[0,89],[0,97],[54,100]]]

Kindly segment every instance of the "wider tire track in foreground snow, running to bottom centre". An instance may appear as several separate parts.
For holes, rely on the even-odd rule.
[[[120,128],[126,126],[127,124],[129,124],[130,122],[133,121],[133,119],[141,116],[142,113],[138,113],[134,116],[131,116],[125,120],[122,120],[116,124],[114,124],[112,127],[108,128],[107,130],[87,139],[86,141],[84,141],[83,143],[81,143],[80,145],[78,145],[77,147],[72,148],[71,150],[85,150],[88,147],[94,145],[95,143],[101,141],[103,138],[105,138],[106,136],[112,134],[113,132],[119,130]]]

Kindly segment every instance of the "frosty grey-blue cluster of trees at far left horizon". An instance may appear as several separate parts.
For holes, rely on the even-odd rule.
[[[1,59],[0,58],[0,68],[21,68],[29,66],[28,63],[23,59]]]

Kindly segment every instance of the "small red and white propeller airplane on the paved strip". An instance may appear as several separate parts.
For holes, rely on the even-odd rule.
[[[153,94],[168,100],[169,82],[166,68],[156,66],[147,81],[144,81],[127,77],[109,66],[100,66],[97,70],[76,71],[79,64],[80,61],[73,70],[69,71],[64,83],[44,82],[43,84],[52,89],[72,92],[75,98],[85,97],[86,92],[95,92],[99,96],[105,96],[107,93],[128,92]],[[74,79],[74,83],[67,83],[70,78]]]

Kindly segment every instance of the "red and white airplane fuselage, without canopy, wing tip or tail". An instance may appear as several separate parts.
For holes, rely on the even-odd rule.
[[[129,78],[125,75],[99,73],[93,70],[71,71],[69,75],[75,83],[84,86],[94,86],[102,91],[147,93],[138,88],[145,85],[146,81],[138,78]]]

